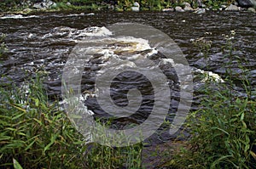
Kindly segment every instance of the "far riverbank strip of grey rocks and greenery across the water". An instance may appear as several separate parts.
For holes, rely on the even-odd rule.
[[[9,3],[3,1],[0,3],[0,16],[5,14],[35,14],[42,12],[57,11],[163,11],[163,12],[195,12],[197,14],[207,11],[249,11],[255,13],[255,0],[237,0],[237,1],[26,1]]]

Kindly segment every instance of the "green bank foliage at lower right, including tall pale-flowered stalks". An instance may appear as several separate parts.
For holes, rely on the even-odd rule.
[[[240,59],[232,53],[236,32],[226,37],[224,57]],[[208,48],[207,48],[208,49]],[[247,80],[247,70],[239,77],[245,95],[234,92],[235,76],[227,63],[224,83],[207,82],[201,88],[205,97],[200,110],[187,121],[191,133],[190,149],[184,149],[172,161],[175,168],[256,168],[256,100]],[[213,87],[212,87],[213,86]]]

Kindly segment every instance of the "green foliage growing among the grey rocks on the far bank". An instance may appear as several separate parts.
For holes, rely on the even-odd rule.
[[[138,2],[141,10],[156,10],[159,11],[162,8],[175,8],[176,6],[183,6],[184,2],[193,4],[193,7],[197,7],[197,0],[53,0],[57,6],[56,9],[69,9],[69,10],[102,10],[108,9],[110,5],[115,4],[114,8],[117,11],[131,10],[133,3]],[[230,4],[234,0],[205,0],[202,1],[207,7],[219,8],[221,4]],[[40,0],[31,1],[32,3],[42,2]],[[70,4],[67,4],[70,3]],[[29,8],[26,1],[12,1],[3,0],[0,2],[2,11],[8,10],[22,10]]]

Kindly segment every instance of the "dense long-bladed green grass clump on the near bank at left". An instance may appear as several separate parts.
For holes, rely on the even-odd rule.
[[[48,102],[39,76],[28,85],[27,93],[24,87],[1,88],[0,166],[13,166],[15,159],[23,168],[79,168],[82,137]]]

